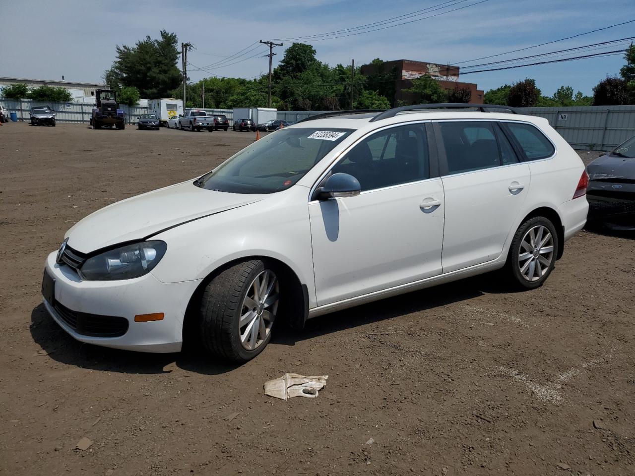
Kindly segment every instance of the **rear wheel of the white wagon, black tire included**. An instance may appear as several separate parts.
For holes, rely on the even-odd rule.
[[[535,289],[547,281],[558,256],[558,234],[548,218],[535,216],[518,227],[505,271],[517,289]]]

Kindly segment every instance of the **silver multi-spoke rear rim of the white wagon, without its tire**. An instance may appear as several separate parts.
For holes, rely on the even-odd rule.
[[[543,225],[531,227],[521,240],[518,253],[520,274],[527,281],[538,281],[551,267],[554,256],[554,239]]]

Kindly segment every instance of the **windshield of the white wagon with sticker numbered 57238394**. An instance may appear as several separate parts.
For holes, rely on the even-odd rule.
[[[280,129],[238,152],[195,183],[234,194],[272,194],[294,185],[352,129]]]

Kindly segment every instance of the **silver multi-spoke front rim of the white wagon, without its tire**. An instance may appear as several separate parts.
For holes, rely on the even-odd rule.
[[[251,282],[241,306],[238,323],[241,344],[246,350],[260,347],[271,333],[279,302],[276,274],[265,269]]]

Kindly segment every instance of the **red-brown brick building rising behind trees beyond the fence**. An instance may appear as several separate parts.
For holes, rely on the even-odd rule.
[[[460,68],[452,65],[439,65],[436,63],[426,63],[423,61],[413,60],[394,60],[387,61],[381,65],[363,65],[361,74],[364,76],[373,76],[375,74],[389,73],[396,69],[397,79],[394,84],[394,103],[402,100],[406,103],[412,103],[417,100],[417,95],[406,93],[404,89],[412,87],[412,80],[419,76],[432,76],[438,79],[443,89],[469,88],[472,93],[471,103],[483,104],[483,90],[478,89],[474,83],[462,83],[458,81]],[[388,98],[389,100],[391,98]]]

